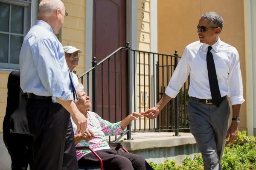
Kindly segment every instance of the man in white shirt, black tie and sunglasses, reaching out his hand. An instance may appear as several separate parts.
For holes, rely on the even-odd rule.
[[[223,19],[216,12],[203,14],[198,23],[199,41],[186,46],[163,98],[144,114],[154,119],[179,93],[190,76],[187,113],[191,133],[202,153],[205,170],[221,170],[225,145],[237,139],[239,111],[244,102],[239,54],[219,38]],[[230,96],[233,119],[228,128]]]

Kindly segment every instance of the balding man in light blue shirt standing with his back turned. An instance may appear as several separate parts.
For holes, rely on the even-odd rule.
[[[26,114],[34,136],[36,170],[78,169],[74,140],[66,139],[70,114],[78,125],[77,132],[86,130],[87,119],[73,102],[77,94],[63,46],[55,36],[64,16],[61,0],[42,0],[38,20],[24,38],[20,51],[20,88],[28,94]],[[64,152],[71,156],[66,158]]]

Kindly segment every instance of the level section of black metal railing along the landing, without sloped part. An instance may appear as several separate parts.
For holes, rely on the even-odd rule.
[[[180,57],[177,51],[175,51],[175,54],[169,55],[133,49],[131,49],[131,55],[134,61],[132,89],[138,88],[138,92],[134,91],[135,94],[133,95],[133,111],[143,112],[156,105],[162,98]],[[137,74],[135,74],[136,71]],[[172,99],[163,108],[156,120],[152,121],[140,117],[132,124],[132,130],[175,131],[176,136],[178,136],[179,130],[188,130],[189,125],[186,115],[186,104],[189,99],[188,87],[189,80],[184,83],[175,99]]]

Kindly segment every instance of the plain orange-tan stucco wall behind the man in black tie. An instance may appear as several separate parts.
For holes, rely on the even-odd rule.
[[[241,73],[245,86],[245,46],[243,0],[158,0],[158,52],[182,55],[184,48],[198,41],[196,25],[204,12],[216,11],[224,18],[220,38],[236,47],[240,56]],[[231,114],[232,115],[232,114]],[[240,130],[246,130],[246,104],[241,106]]]

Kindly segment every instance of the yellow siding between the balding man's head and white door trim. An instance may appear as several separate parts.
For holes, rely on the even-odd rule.
[[[77,75],[85,72],[85,14],[86,0],[63,0],[68,16],[61,28],[61,43],[72,45],[83,51],[79,65],[75,68]]]

